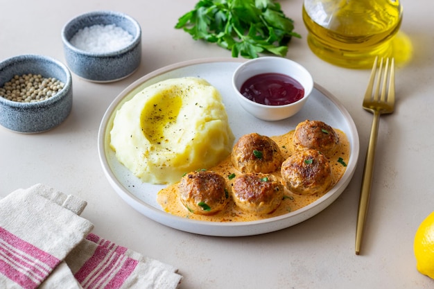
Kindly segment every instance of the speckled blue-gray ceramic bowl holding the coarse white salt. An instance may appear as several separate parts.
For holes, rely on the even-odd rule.
[[[98,53],[78,49],[71,44],[76,33],[95,25],[112,25],[132,35],[132,42],[121,49]],[[69,69],[92,82],[112,82],[133,73],[141,60],[141,28],[132,17],[121,12],[94,11],[71,19],[62,29],[64,56]]]

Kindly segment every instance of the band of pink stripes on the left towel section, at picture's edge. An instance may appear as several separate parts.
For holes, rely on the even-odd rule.
[[[0,272],[23,288],[37,288],[60,260],[0,227]]]

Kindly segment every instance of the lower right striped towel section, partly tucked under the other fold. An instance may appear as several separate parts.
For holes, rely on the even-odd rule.
[[[95,234],[89,234],[65,261],[85,289],[175,289],[182,280],[173,266],[147,258]]]

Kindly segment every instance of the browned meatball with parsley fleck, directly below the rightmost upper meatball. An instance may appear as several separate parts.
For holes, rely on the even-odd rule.
[[[327,157],[318,150],[299,150],[281,165],[286,189],[300,195],[323,193],[332,182]]]

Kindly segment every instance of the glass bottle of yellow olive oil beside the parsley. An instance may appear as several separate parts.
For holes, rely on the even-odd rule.
[[[304,0],[302,15],[315,55],[342,67],[368,68],[376,55],[392,56],[402,7],[399,0]]]

